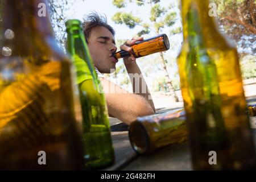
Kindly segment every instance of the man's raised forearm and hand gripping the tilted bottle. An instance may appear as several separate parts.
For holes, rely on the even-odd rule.
[[[127,40],[125,44],[123,44],[120,48],[125,51],[131,51],[131,47],[135,42],[143,40],[142,37],[133,38],[131,40]],[[134,56],[123,58],[123,63],[125,64],[126,70],[130,77],[133,93],[142,96],[148,104],[151,106],[152,110],[155,112],[154,102],[152,101],[150,91],[147,87],[146,81],[141,73],[141,69],[139,69],[138,64],[136,63],[136,58]]]

